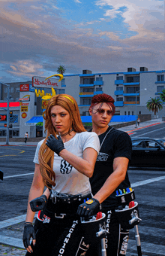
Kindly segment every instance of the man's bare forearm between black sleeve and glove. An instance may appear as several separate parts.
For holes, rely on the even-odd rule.
[[[97,199],[100,203],[103,203],[110,194],[124,181],[127,165],[129,163],[129,159],[126,157],[116,157],[113,160],[113,173],[107,178],[103,187],[95,194],[95,199]]]

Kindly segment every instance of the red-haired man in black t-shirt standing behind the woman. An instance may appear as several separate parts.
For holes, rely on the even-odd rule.
[[[89,108],[92,115],[92,132],[98,134],[101,149],[95,163],[95,170],[90,182],[92,185],[93,200],[101,203],[102,211],[107,215],[106,247],[107,256],[126,254],[129,230],[124,230],[116,218],[115,209],[118,202],[116,190],[127,189],[130,181],[127,175],[127,166],[131,159],[132,144],[130,136],[109,126],[115,113],[114,99],[105,93],[95,95]],[[92,206],[91,206],[92,207]],[[93,205],[95,208],[95,205]],[[87,215],[90,207],[86,203],[79,206],[79,213]],[[98,255],[98,242],[91,245],[87,255]]]

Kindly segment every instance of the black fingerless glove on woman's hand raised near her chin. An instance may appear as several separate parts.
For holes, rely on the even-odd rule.
[[[46,140],[46,145],[54,151],[56,154],[59,155],[60,151],[65,149],[64,143],[62,142],[62,139],[60,136],[58,136],[58,139],[55,139],[55,136],[52,134],[48,137]]]

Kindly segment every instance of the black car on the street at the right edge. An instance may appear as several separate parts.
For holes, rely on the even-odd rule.
[[[165,167],[165,139],[131,138],[130,166]]]

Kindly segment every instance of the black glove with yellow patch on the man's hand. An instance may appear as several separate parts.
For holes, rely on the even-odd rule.
[[[77,210],[77,215],[83,216],[91,216],[95,215],[100,211],[101,204],[95,198],[92,198],[86,203],[82,203]]]

